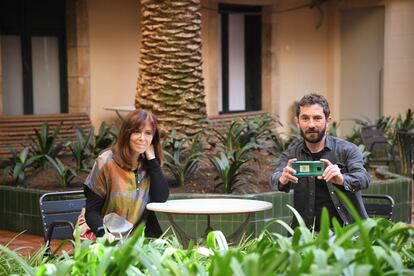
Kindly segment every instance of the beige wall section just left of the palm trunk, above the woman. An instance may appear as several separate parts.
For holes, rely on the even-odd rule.
[[[133,105],[140,39],[140,1],[89,0],[91,120],[117,118],[104,107]]]

